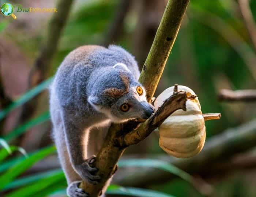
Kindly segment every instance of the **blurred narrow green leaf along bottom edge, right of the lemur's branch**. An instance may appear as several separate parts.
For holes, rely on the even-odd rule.
[[[157,192],[150,189],[122,187],[118,185],[110,185],[107,189],[107,194],[125,195],[125,196],[140,196],[140,197],[174,197],[170,194]]]

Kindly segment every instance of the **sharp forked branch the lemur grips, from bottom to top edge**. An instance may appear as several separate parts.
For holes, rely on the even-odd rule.
[[[146,89],[149,102],[162,75],[188,3],[189,0],[169,0],[167,3],[153,45],[139,78],[139,81]],[[146,122],[134,131],[132,130],[138,126],[138,122],[131,121],[126,124],[112,124],[94,163],[95,167],[99,169],[97,174],[102,177],[101,182],[97,185],[90,185],[86,181],[82,181],[80,187],[89,193],[90,197],[100,196],[108,179],[116,172],[116,163],[125,148],[146,138],[154,130],[154,126],[157,127],[161,121],[167,118],[175,107],[176,109],[184,109],[186,98],[187,96],[183,92],[174,94],[168,100],[170,103],[167,101],[165,104],[168,106],[173,105],[174,108],[168,110],[160,107],[155,114],[151,115]],[[130,131],[131,133],[129,133]]]

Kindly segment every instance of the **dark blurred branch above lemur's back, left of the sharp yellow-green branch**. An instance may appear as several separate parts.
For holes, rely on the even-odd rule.
[[[123,31],[124,19],[127,15],[132,0],[120,0],[120,3],[116,9],[116,13],[109,27],[109,31],[105,38],[104,46],[108,46],[118,40]]]

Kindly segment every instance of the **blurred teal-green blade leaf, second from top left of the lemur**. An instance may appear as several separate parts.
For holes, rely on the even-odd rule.
[[[45,113],[39,115],[38,117],[31,119],[30,121],[24,123],[23,125],[16,127],[14,130],[10,131],[3,138],[7,141],[10,141],[11,139],[20,136],[26,130],[34,127],[35,125],[39,125],[39,124],[47,121],[49,118],[50,118],[50,113],[49,113],[49,111],[46,111]]]

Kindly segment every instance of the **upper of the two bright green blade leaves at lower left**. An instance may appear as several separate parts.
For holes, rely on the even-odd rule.
[[[23,161],[18,162],[16,165],[12,166],[7,172],[3,173],[0,176],[0,190],[4,188],[5,185],[10,183],[15,177],[19,176],[25,170],[30,168],[35,162],[40,159],[45,158],[47,155],[53,153],[56,150],[55,146],[49,146],[38,152],[30,155],[28,158]]]

